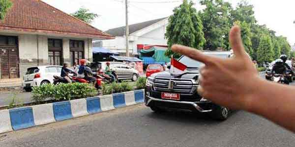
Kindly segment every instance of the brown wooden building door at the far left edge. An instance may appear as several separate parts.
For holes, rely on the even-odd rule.
[[[0,36],[1,78],[19,77],[17,37]]]

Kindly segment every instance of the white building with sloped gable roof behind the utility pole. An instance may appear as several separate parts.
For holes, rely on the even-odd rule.
[[[167,46],[167,39],[165,39],[167,25],[168,17],[129,25],[130,55],[138,54],[142,45]],[[109,29],[106,33],[116,38],[95,40],[93,47],[103,47],[118,52],[120,55],[126,55],[125,26]]]

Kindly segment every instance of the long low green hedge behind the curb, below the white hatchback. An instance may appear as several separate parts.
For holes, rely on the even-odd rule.
[[[76,98],[87,98],[97,95],[97,90],[87,83],[72,83],[58,85],[45,84],[34,87],[32,91],[32,99],[40,103],[46,98],[59,100],[71,100]]]

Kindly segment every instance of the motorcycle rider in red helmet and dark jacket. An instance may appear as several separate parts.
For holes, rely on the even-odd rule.
[[[95,75],[95,72],[92,72],[91,69],[87,66],[87,64],[89,63],[88,60],[86,59],[81,59],[80,60],[80,67],[79,67],[79,71],[78,71],[78,77],[79,78],[84,78],[87,81],[89,81],[89,83],[93,83],[93,85],[96,84],[96,78],[93,77],[92,75]]]

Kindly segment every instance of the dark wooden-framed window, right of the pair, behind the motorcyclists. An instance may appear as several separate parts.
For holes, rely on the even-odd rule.
[[[79,61],[84,57],[84,41],[80,40],[70,40],[70,60],[71,65],[74,62],[79,64]]]

